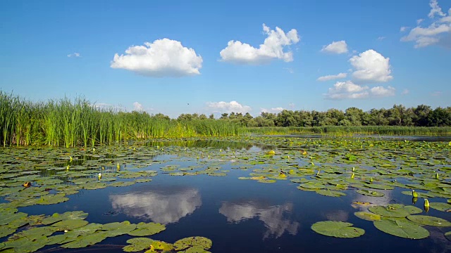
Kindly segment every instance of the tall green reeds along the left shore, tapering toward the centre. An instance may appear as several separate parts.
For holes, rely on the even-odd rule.
[[[1,145],[94,146],[131,139],[237,136],[244,127],[215,119],[180,121],[147,112],[97,108],[83,97],[32,103],[0,91]]]

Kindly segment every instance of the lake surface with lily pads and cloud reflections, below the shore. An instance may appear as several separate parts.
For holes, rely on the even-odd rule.
[[[79,230],[82,223],[66,227],[49,221],[54,213],[82,211],[89,223],[83,226],[161,223],[166,229],[143,237],[168,243],[209,238],[210,252],[450,252],[450,235],[445,235],[451,231],[446,223],[451,221],[450,155],[447,141],[365,136],[2,148],[0,251],[26,252],[14,246],[14,240],[37,238],[56,242],[30,242],[42,246],[39,252],[123,252],[127,240],[139,237],[121,232],[107,236],[109,229],[99,225],[68,240],[65,234]],[[29,188],[22,186],[27,181]],[[412,189],[419,193],[414,203]],[[425,197],[431,205],[427,212]],[[356,212],[371,214],[374,221]],[[311,228],[319,221],[352,223],[346,226],[363,229],[364,234],[338,230],[334,233],[339,237],[356,237],[323,235]],[[338,224],[343,223],[330,226]],[[39,231],[39,237],[26,233],[35,229],[36,234],[36,228],[44,227],[51,232]],[[424,238],[409,238],[416,233]],[[97,234],[104,238],[89,247],[59,247]],[[194,248],[191,252],[202,252]]]

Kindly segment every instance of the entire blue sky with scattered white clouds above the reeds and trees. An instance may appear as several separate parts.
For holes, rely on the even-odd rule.
[[[6,0],[0,24],[0,89],[35,101],[171,117],[451,105],[445,0]]]

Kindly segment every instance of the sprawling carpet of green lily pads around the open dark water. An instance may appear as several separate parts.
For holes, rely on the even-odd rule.
[[[395,188],[404,188],[403,194],[412,195],[414,189],[413,202],[418,197],[435,198],[436,202],[431,202],[428,207],[441,212],[451,210],[450,143],[257,136],[206,139],[229,145],[230,142],[258,143],[259,147],[271,148],[253,150],[249,145],[240,145],[242,148],[221,145],[187,148],[180,142],[188,140],[178,139],[177,145],[171,141],[161,139],[158,145],[126,143],[87,150],[3,148],[0,153],[0,197],[7,202],[0,203],[0,238],[13,235],[6,242],[0,242],[0,250],[20,251],[25,247],[22,245],[28,244],[32,244],[30,252],[53,244],[86,247],[111,236],[141,237],[147,236],[149,230],[162,228],[162,231],[164,226],[156,223],[88,224],[84,220],[87,214],[82,212],[28,216],[18,212],[17,208],[65,202],[69,195],[80,190],[145,183],[157,174],[227,176],[229,170],[222,169],[223,164],[249,171],[249,176],[239,179],[259,183],[291,181],[299,190],[329,197],[344,196],[351,191],[383,197],[383,190]],[[162,166],[158,171],[146,169],[152,164],[175,160],[195,162],[195,165],[180,167],[174,163]],[[423,211],[414,206],[371,205],[368,210],[355,215],[373,221],[374,226],[385,233],[404,238],[426,238],[428,231],[423,226],[451,226],[444,219],[419,215]],[[320,221],[311,228],[334,237],[352,238],[364,234],[362,228],[340,221]],[[186,238],[174,244],[149,238],[132,238],[128,243],[130,245],[124,248],[126,251],[202,252],[211,247],[211,241],[201,237]]]

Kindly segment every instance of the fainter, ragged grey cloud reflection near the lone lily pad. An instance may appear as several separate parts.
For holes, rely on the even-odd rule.
[[[239,223],[245,219],[258,217],[263,221],[268,229],[264,233],[264,239],[270,237],[279,238],[287,231],[290,235],[296,235],[299,223],[286,219],[287,213],[292,213],[293,204],[291,202],[284,205],[270,206],[262,202],[223,202],[219,213],[227,217],[228,222]]]

